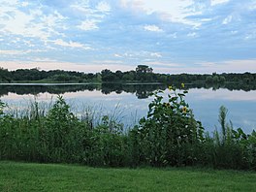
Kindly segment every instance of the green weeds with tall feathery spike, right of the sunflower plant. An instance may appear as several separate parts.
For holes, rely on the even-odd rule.
[[[228,110],[221,106],[219,122],[221,131],[207,136],[206,161],[213,167],[256,170],[256,133],[246,135],[241,128],[235,130],[226,120]]]

